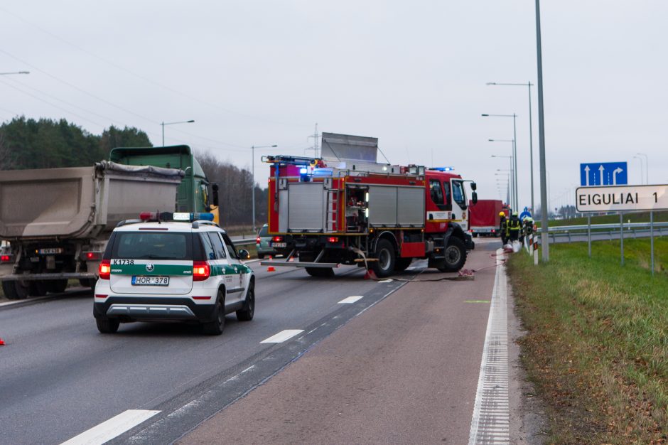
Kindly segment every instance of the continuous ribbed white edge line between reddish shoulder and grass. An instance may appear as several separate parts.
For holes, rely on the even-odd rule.
[[[499,249],[496,253],[496,277],[468,436],[469,445],[510,443],[507,279],[502,262],[503,250]]]

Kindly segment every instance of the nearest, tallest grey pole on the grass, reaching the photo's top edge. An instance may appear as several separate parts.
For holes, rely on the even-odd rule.
[[[546,167],[545,167],[545,122],[543,118],[543,57],[541,50],[540,39],[540,0],[536,0],[536,49],[537,49],[537,65],[538,65],[538,143],[539,143],[539,163],[540,163],[540,200],[541,200],[541,245],[542,245],[542,259],[544,262],[549,262],[550,246],[549,237],[547,235],[547,183],[546,183]]]

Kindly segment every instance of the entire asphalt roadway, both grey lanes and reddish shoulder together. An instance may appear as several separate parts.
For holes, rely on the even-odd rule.
[[[255,318],[227,316],[219,337],[175,323],[99,334],[90,294],[0,307],[0,444],[60,444],[134,409],[150,419],[112,443],[465,443],[499,245],[478,243],[467,267],[483,270],[465,282],[254,263]],[[301,332],[261,343],[284,330]]]

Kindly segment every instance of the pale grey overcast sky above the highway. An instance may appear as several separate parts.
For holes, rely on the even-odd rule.
[[[574,202],[582,162],[627,161],[668,183],[668,2],[542,1],[551,208]],[[517,117],[519,200],[530,203],[532,0],[3,1],[0,120],[65,118],[94,134],[137,127],[242,168],[304,154],[318,131],[379,138],[392,163],[454,166],[500,198]],[[534,188],[539,205],[537,89]],[[306,151],[312,153],[312,151]],[[379,159],[382,160],[382,159]],[[503,184],[505,187],[505,183]],[[504,196],[505,198],[505,192]]]

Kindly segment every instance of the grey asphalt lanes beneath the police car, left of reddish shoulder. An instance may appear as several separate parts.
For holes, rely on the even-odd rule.
[[[257,271],[255,318],[242,323],[227,316],[225,333],[217,337],[176,323],[122,324],[116,335],[102,335],[91,295],[81,292],[1,307],[0,444],[60,444],[128,409],[160,411],[151,420],[168,426],[141,437],[168,443],[402,286],[364,280],[357,267],[314,279],[301,269],[269,273],[251,266]],[[364,298],[338,304],[348,296]],[[286,329],[304,335],[260,343]],[[195,399],[205,402],[167,418]]]

